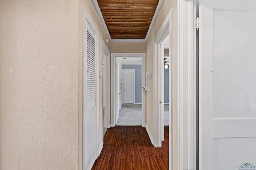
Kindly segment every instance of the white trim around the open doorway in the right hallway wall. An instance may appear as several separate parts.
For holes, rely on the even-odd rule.
[[[162,23],[156,37],[153,41],[153,145],[155,147],[162,146],[162,131],[164,130],[164,126],[162,125],[161,117],[162,114],[159,114],[160,104],[159,102],[163,99],[162,97],[162,88],[161,86],[161,66],[163,66],[160,44],[164,41],[166,36],[169,34],[169,49],[170,49],[170,61],[169,66],[172,68],[172,12],[173,8],[171,8],[170,12],[166,16],[164,22]],[[169,77],[172,77],[172,70],[169,70]],[[170,82],[172,80],[170,79]],[[170,83],[172,84],[172,83]],[[172,101],[172,85],[169,86],[169,100]],[[161,101],[162,105],[164,101]],[[172,169],[172,102],[170,102],[169,108],[169,169]]]

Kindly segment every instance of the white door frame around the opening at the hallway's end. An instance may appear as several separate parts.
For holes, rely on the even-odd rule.
[[[115,113],[114,113],[114,104],[115,104],[115,95],[112,92],[115,92],[115,58],[116,57],[141,57],[142,59],[142,86],[146,86],[146,53],[111,53],[111,117],[110,117],[110,126],[115,126]],[[142,90],[142,127],[146,126],[146,91]]]

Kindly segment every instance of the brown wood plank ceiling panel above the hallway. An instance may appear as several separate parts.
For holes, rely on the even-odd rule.
[[[111,39],[145,39],[159,0],[97,0]]]

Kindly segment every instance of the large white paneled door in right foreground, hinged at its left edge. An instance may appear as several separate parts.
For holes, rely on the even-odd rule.
[[[200,170],[256,169],[256,1],[200,0]]]

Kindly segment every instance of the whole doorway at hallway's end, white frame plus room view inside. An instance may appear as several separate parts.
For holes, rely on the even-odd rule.
[[[145,53],[111,53],[111,127],[146,126],[145,65]]]

